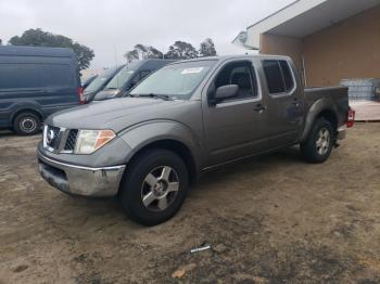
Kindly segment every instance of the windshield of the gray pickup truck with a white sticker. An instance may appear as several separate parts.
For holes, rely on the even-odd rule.
[[[140,82],[130,94],[157,94],[188,100],[215,63],[192,61],[165,66]]]

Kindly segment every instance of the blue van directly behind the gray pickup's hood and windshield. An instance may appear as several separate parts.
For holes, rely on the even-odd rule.
[[[174,61],[170,60],[143,60],[129,63],[124,66],[105,86],[103,91],[94,96],[94,101],[104,101],[113,98],[119,98],[128,90],[135,87],[151,73]]]

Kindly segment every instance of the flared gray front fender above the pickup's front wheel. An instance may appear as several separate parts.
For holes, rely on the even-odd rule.
[[[130,147],[127,162],[144,146],[163,141],[174,140],[186,145],[194,158],[197,167],[202,164],[201,138],[186,125],[173,120],[151,120],[135,125],[118,134]]]

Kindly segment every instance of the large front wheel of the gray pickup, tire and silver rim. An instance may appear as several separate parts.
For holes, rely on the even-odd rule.
[[[188,188],[183,160],[172,151],[154,149],[143,152],[127,167],[119,199],[131,219],[155,225],[179,210]]]

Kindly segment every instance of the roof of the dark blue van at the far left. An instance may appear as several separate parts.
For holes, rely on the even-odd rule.
[[[74,51],[67,48],[5,46],[0,47],[0,55],[72,57]]]

